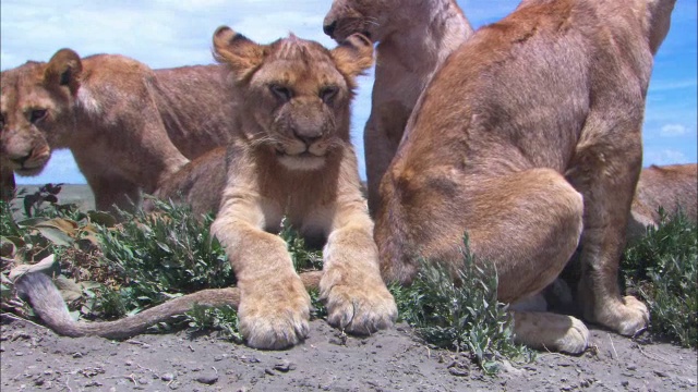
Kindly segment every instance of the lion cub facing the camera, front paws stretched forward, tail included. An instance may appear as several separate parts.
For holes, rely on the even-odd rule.
[[[330,324],[354,333],[387,328],[397,308],[381,279],[373,222],[349,138],[354,78],[373,62],[371,41],[353,35],[330,51],[291,36],[262,46],[221,27],[214,35],[214,50],[236,86],[227,99],[243,102],[230,113],[238,126],[225,151],[226,167],[216,168],[227,169],[227,184],[212,226],[226,247],[239,291],[202,291],[99,323],[70,320],[43,275],[27,275],[17,283],[20,291],[51,328],[70,335],[123,338],[193,303],[239,302],[246,343],[282,348],[308,334],[304,285],[320,287]],[[284,216],[308,238],[326,241],[322,273],[305,274],[302,281],[284,240],[267,232],[278,232]]]

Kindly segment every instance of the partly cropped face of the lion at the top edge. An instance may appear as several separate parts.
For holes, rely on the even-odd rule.
[[[325,34],[341,41],[353,33],[361,33],[374,42],[388,32],[389,17],[411,1],[399,0],[335,0],[323,23]]]

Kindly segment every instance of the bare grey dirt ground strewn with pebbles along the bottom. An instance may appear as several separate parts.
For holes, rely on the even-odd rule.
[[[113,342],[62,338],[3,316],[4,391],[696,391],[697,353],[592,330],[581,356],[541,353],[484,376],[464,354],[433,350],[398,324],[346,336],[323,320],[288,351],[257,351],[184,331]]]

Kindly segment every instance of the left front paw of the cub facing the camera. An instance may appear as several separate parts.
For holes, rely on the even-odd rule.
[[[310,296],[303,289],[293,287],[282,297],[269,295],[280,290],[244,293],[238,315],[240,332],[246,344],[263,350],[281,350],[298,344],[308,336]]]

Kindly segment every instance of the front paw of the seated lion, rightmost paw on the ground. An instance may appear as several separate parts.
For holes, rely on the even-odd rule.
[[[622,301],[606,303],[597,316],[597,321],[622,335],[633,336],[647,327],[650,321],[650,311],[647,305],[628,295]]]

